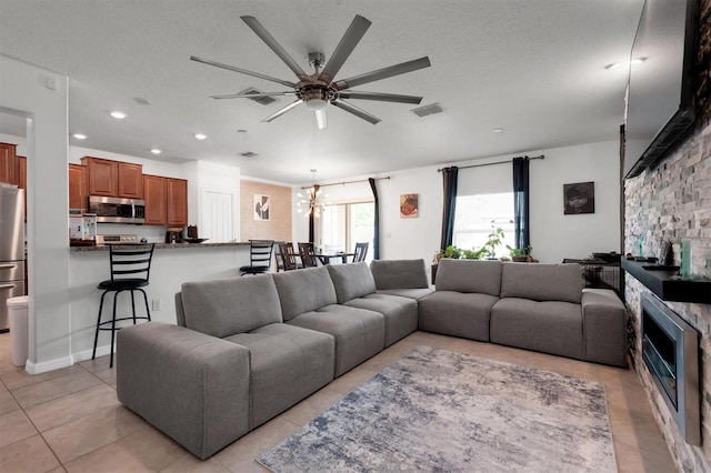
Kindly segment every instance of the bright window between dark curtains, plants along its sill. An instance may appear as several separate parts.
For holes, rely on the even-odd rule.
[[[457,197],[453,244],[467,250],[480,249],[495,228],[503,230],[504,244],[497,258],[508,256],[505,245],[513,248],[513,192]]]

